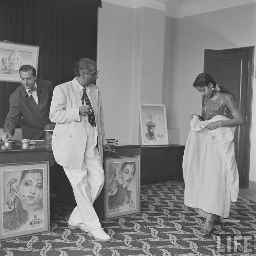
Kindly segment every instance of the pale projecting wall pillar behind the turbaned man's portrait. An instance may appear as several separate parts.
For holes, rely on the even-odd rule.
[[[131,144],[141,143],[139,104],[162,103],[165,38],[165,12],[147,7],[135,12]]]

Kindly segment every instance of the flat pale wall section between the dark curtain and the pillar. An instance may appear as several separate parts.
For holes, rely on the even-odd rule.
[[[133,75],[134,9],[102,2],[98,20],[97,85],[105,135],[129,142]]]

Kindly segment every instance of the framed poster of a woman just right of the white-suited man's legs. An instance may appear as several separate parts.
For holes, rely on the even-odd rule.
[[[104,219],[140,213],[140,156],[105,159]]]

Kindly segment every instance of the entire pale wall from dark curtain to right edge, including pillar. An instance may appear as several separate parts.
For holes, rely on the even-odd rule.
[[[197,13],[197,4],[209,0],[194,0],[194,6],[190,0],[172,1],[166,5],[166,13],[145,6],[134,7],[135,0],[132,5],[128,0],[122,1],[127,6],[118,5],[118,0],[105,1],[116,3],[103,1],[99,9],[98,85],[103,95],[106,138],[118,139],[120,143],[139,143],[139,103],[163,103],[167,106],[168,129],[180,130],[180,144],[185,144],[189,116],[201,112],[201,95],[192,84],[203,71],[204,49],[255,46],[256,3],[222,10],[217,9],[228,5],[208,3],[203,11],[210,8],[215,11],[186,16],[195,10]],[[234,4],[233,0],[216,2]],[[245,2],[235,0],[235,4]],[[173,10],[178,17],[186,17],[165,18],[165,14]],[[255,103],[254,89],[252,181],[256,181]]]

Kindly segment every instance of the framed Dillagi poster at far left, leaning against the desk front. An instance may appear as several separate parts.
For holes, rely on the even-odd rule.
[[[50,232],[49,162],[0,165],[0,240]]]

